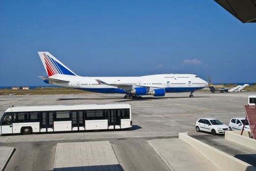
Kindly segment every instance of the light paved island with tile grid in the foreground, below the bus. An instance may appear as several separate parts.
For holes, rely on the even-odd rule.
[[[122,171],[109,141],[58,143],[54,171]]]

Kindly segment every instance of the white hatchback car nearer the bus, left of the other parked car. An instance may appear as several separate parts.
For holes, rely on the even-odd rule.
[[[227,125],[215,118],[199,118],[195,126],[197,132],[206,131],[211,132],[213,135],[224,134],[225,131],[229,130]]]

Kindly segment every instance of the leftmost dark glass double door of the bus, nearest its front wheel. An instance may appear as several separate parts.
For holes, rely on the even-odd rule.
[[[53,112],[42,112],[40,132],[53,132]]]

